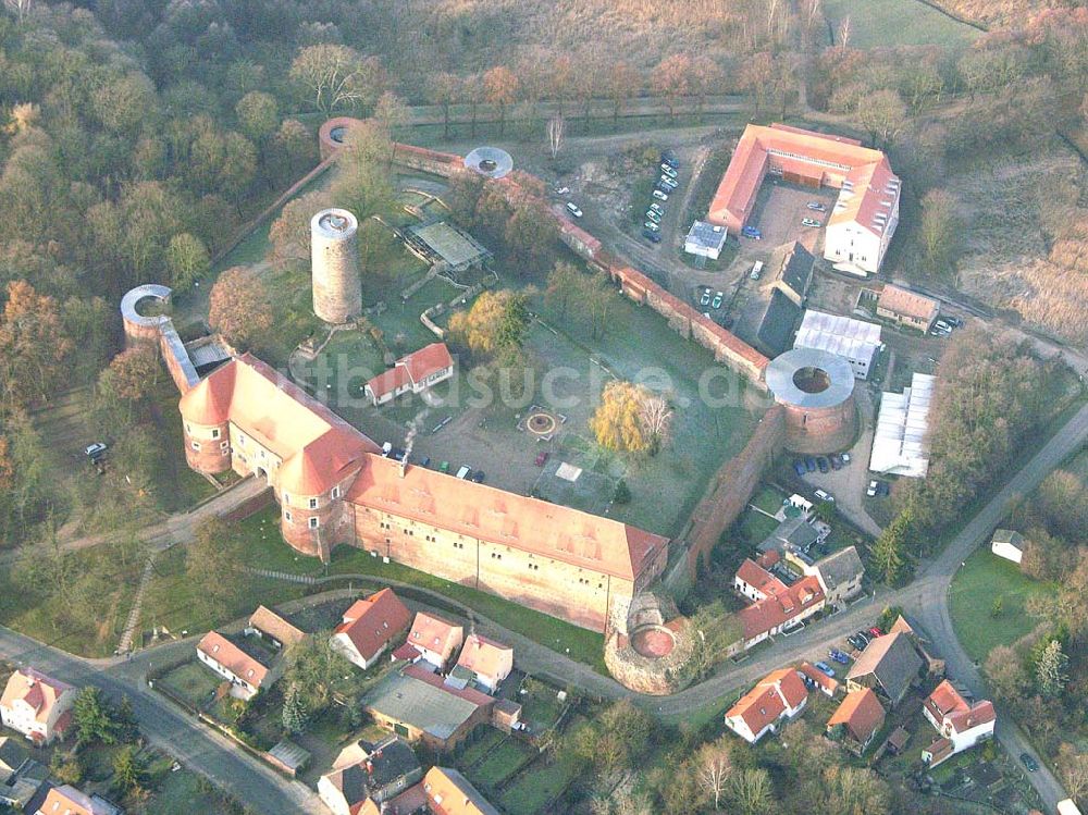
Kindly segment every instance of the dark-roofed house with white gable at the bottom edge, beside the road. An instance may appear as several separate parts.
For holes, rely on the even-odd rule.
[[[318,794],[334,815],[356,815],[368,799],[383,804],[422,777],[411,745],[390,736],[376,744],[360,741],[342,750],[332,771],[319,779]]]

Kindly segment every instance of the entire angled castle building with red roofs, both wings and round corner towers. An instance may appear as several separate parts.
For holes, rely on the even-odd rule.
[[[373,441],[251,355],[181,399],[198,472],[267,480],[295,549],[347,544],[603,631],[665,568],[668,539],[383,458]]]

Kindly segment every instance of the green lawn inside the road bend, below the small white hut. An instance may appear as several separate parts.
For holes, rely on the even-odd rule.
[[[1036,620],[1024,610],[1027,598],[1051,591],[1019,567],[984,546],[967,558],[952,581],[951,614],[956,637],[972,659],[984,662],[998,645],[1011,645],[1029,633]],[[1001,613],[991,614],[1001,598]]]

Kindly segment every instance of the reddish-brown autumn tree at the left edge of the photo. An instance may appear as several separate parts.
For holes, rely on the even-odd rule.
[[[0,398],[8,407],[28,407],[65,382],[72,341],[57,301],[29,283],[8,284],[0,314]]]

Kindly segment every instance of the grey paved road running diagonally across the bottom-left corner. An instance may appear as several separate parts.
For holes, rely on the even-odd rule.
[[[129,663],[79,659],[3,627],[0,627],[0,653],[16,664],[33,664],[72,684],[100,688],[114,700],[128,694],[140,729],[151,744],[230,790],[257,812],[326,815],[324,805],[308,787],[279,776],[149,690],[143,681],[148,656]],[[156,651],[149,656],[165,659],[169,653]]]

